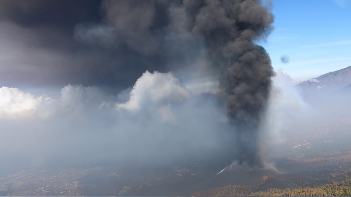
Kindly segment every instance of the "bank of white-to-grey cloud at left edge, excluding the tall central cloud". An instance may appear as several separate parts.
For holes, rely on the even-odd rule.
[[[107,98],[98,87],[67,85],[58,98],[46,95],[34,97],[17,88],[0,88],[0,118],[38,116],[48,118],[54,114],[67,113],[81,116],[85,110],[108,107]]]

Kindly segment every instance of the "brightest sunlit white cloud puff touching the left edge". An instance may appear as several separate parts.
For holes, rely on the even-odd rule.
[[[0,118],[32,115],[38,108],[41,97],[24,93],[17,88],[0,88]]]

